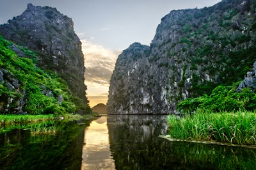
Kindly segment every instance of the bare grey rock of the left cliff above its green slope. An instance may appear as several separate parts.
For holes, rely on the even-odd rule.
[[[84,58],[72,19],[51,7],[33,6],[0,26],[0,34],[38,52],[38,65],[59,73],[71,91],[87,103]]]

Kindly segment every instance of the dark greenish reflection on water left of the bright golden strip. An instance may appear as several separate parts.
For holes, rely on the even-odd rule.
[[[51,135],[31,130],[0,134],[0,169],[81,169],[86,125],[56,122]]]

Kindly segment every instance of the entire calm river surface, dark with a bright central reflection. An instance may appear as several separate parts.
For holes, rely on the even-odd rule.
[[[250,148],[171,142],[166,116],[56,123],[52,134],[0,134],[0,169],[256,169]]]

